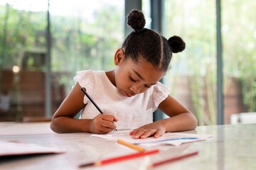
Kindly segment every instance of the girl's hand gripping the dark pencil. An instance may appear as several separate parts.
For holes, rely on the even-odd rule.
[[[100,114],[92,119],[90,123],[90,132],[97,134],[105,134],[116,129],[114,122],[117,118],[114,115]]]

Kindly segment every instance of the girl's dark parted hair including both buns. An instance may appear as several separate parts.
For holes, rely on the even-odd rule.
[[[133,28],[132,33],[125,38],[122,48],[124,60],[131,58],[135,63],[143,57],[157,69],[167,71],[171,62],[172,52],[185,49],[185,42],[178,36],[167,40],[154,30],[144,28],[145,18],[142,11],[132,10],[127,16],[127,25]]]

